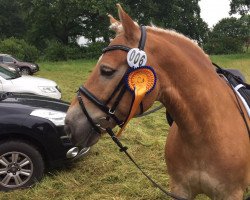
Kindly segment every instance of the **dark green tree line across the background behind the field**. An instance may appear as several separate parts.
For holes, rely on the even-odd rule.
[[[242,17],[223,19],[212,30],[201,18],[198,2],[119,0],[139,24],[174,29],[209,53],[241,52],[244,44],[249,45],[250,0],[231,0],[230,14]],[[14,54],[26,43],[25,48],[34,52],[26,56],[30,60],[36,54],[51,60],[95,57],[113,37],[107,13],[118,18],[116,3],[118,0],[0,0],[0,51]],[[87,47],[77,45],[80,36],[88,40]]]

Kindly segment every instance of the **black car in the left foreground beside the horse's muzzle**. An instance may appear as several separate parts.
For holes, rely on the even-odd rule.
[[[68,106],[43,96],[0,93],[0,190],[29,187],[45,168],[88,152],[64,132]]]

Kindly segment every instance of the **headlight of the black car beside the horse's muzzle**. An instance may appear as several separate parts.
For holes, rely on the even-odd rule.
[[[64,112],[49,109],[36,109],[32,111],[30,115],[48,119],[56,126],[63,126],[66,117],[66,113]]]

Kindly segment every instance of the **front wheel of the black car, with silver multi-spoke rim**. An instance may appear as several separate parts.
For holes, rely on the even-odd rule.
[[[19,140],[0,144],[0,190],[30,187],[43,172],[43,158],[32,145]]]

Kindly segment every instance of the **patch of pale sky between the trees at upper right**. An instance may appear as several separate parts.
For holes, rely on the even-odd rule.
[[[207,22],[209,28],[212,28],[222,18],[230,17],[230,0],[201,0],[199,5],[201,18]]]

